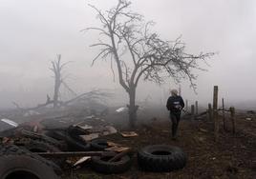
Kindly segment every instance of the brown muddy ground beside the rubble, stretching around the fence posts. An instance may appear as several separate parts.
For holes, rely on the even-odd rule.
[[[118,130],[128,130],[125,114],[105,116],[105,121]],[[102,121],[102,120],[101,120]],[[222,120],[221,120],[222,121]],[[201,120],[183,117],[178,141],[171,140],[171,124],[166,112],[150,109],[139,114],[136,132],[138,137],[123,138],[119,133],[104,137],[135,150],[147,145],[168,144],[178,146],[187,154],[188,162],[184,169],[153,173],[139,170],[137,155],[133,157],[133,167],[122,174],[105,175],[90,169],[90,163],[82,169],[67,170],[64,178],[77,179],[253,179],[256,176],[256,118],[255,114],[240,112],[236,115],[236,133],[232,133],[229,116],[225,115],[227,131],[221,123],[220,137],[214,142],[213,122],[206,116]]]

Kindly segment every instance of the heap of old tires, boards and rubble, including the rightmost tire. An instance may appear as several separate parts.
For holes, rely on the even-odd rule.
[[[85,163],[102,173],[120,173],[132,166],[133,149],[103,139],[117,133],[109,125],[90,126],[82,121],[67,128],[38,129],[9,119],[0,123],[11,126],[0,133],[1,179],[54,179],[63,170],[77,169]],[[120,134],[138,136],[134,131]],[[144,170],[170,171],[183,168],[186,156],[175,147],[149,146],[139,150],[138,162]]]

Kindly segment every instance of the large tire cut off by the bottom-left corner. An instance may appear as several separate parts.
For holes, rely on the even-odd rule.
[[[58,179],[53,166],[24,149],[11,146],[0,151],[0,179]]]

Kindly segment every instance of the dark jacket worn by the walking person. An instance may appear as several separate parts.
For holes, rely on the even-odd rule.
[[[184,102],[181,96],[170,96],[167,100],[166,108],[170,112],[181,112],[184,108]]]

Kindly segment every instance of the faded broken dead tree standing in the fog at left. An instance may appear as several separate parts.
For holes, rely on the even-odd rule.
[[[62,70],[63,68],[69,63],[61,63],[61,55],[57,55],[57,59],[55,61],[52,61],[52,68],[50,70],[53,71],[54,74],[54,91],[53,91],[53,108],[56,108],[59,103],[59,89],[62,84],[67,84],[64,82]]]

